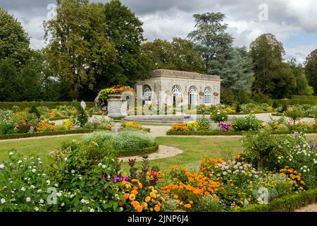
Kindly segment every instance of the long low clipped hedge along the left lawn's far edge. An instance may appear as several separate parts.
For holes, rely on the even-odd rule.
[[[0,140],[17,139],[17,138],[28,138],[37,136],[54,136],[54,135],[66,135],[66,134],[77,134],[77,133],[92,133],[97,129],[72,129],[64,131],[49,131],[49,132],[35,132],[35,133],[13,133],[0,135]]]

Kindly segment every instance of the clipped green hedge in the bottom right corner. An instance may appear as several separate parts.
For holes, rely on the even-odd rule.
[[[268,205],[251,204],[240,208],[239,212],[293,212],[298,208],[307,206],[317,201],[317,189],[302,191],[299,194],[288,194],[277,198]]]

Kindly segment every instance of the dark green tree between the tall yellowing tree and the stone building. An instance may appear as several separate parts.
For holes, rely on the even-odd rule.
[[[137,79],[149,78],[147,59],[140,53],[143,23],[119,0],[105,4],[106,37],[113,42],[118,59],[106,70],[111,85],[134,85]]]

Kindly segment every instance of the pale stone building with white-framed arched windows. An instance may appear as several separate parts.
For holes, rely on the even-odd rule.
[[[137,100],[157,105],[217,105],[220,103],[220,76],[189,71],[158,69],[152,78],[137,81]]]

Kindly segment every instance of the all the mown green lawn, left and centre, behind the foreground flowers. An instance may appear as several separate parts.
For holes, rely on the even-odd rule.
[[[63,141],[80,138],[82,135],[65,136],[56,138],[35,138],[30,140],[16,140],[0,142],[0,162],[8,157],[8,150],[15,148],[18,152],[27,155],[35,154],[44,161],[48,157],[48,153],[56,150]],[[308,136],[308,138],[317,139],[316,135]],[[237,153],[242,152],[239,137],[228,138],[210,138],[210,137],[158,137],[156,142],[161,145],[173,146],[180,148],[183,153],[174,157],[167,157],[159,160],[152,160],[151,165],[158,165],[161,169],[167,169],[173,165],[186,167],[199,167],[203,157],[221,157],[223,159],[232,159]],[[140,165],[138,162],[137,165]],[[128,169],[128,164],[123,165],[123,169]]]

